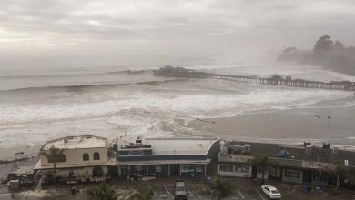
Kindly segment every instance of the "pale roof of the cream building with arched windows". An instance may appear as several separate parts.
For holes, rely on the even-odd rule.
[[[102,148],[107,146],[107,139],[94,135],[66,136],[46,142],[42,150],[48,150],[52,146],[59,149]]]

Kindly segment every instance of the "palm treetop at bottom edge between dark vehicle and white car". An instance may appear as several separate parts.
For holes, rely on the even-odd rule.
[[[212,182],[212,194],[213,197],[217,198],[218,200],[228,195],[231,195],[233,192],[233,185],[227,179],[222,179],[218,176]]]

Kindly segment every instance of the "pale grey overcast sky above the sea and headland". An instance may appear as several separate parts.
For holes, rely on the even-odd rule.
[[[355,45],[354,29],[354,0],[1,0],[0,62],[243,59],[321,35]]]

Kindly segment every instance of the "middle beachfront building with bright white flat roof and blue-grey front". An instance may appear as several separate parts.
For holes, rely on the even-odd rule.
[[[141,138],[117,140],[120,179],[196,177],[217,173],[218,138]]]

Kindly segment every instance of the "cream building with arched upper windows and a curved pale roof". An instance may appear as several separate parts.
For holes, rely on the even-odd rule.
[[[98,174],[107,174],[107,139],[93,135],[66,136],[46,142],[41,152],[50,148],[62,149],[63,153],[56,163],[56,175],[61,178],[89,180]],[[38,155],[34,170],[41,171],[45,178],[54,175],[53,161],[43,154]]]

